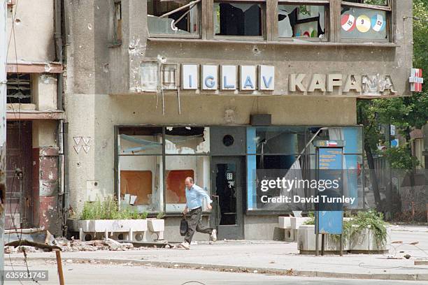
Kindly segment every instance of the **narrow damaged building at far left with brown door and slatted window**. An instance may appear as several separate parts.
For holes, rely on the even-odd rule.
[[[6,229],[62,235],[61,1],[7,4]]]

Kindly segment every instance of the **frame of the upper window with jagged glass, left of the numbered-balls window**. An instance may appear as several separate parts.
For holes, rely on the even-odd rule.
[[[305,5],[305,6],[324,6],[324,17],[325,17],[325,23],[324,23],[324,38],[304,38],[304,37],[282,37],[279,36],[279,28],[278,28],[278,6],[279,5],[291,5],[291,4],[298,4],[298,5]],[[274,7],[274,15],[273,17],[273,37],[276,41],[311,41],[311,42],[329,42],[331,39],[331,0],[278,0],[276,1],[276,5]]]

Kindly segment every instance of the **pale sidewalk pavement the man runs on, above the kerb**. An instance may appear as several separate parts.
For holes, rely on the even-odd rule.
[[[131,263],[166,268],[203,268],[231,272],[257,272],[310,277],[352,279],[427,280],[428,265],[414,265],[417,259],[428,259],[428,229],[406,226],[392,227],[390,254],[344,256],[301,256],[296,242],[218,241],[199,242],[185,249],[145,248],[129,251],[64,252],[66,262]],[[411,245],[411,242],[419,242]],[[402,258],[410,254],[411,258]],[[395,256],[402,259],[388,259]],[[8,263],[6,254],[5,261]],[[22,254],[10,254],[12,260]],[[29,259],[55,258],[53,253],[31,253]]]

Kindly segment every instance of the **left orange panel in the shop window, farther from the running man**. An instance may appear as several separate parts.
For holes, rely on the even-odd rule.
[[[150,170],[121,170],[120,197],[124,194],[137,196],[134,205],[150,204],[152,172]]]

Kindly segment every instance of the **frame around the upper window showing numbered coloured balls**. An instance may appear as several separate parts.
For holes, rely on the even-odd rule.
[[[338,42],[339,43],[352,43],[352,42],[375,42],[375,43],[394,43],[394,9],[392,0],[387,0],[387,6],[380,6],[380,5],[371,5],[371,4],[364,4],[364,3],[353,3],[348,2],[346,0],[338,0],[340,1],[340,11],[342,10],[343,6],[352,7],[352,8],[362,8],[362,9],[369,9],[369,10],[378,10],[378,11],[385,11],[387,15],[387,23],[385,29],[387,29],[387,38],[342,38],[342,27],[341,27],[341,16],[342,13],[340,12],[338,17]]]

